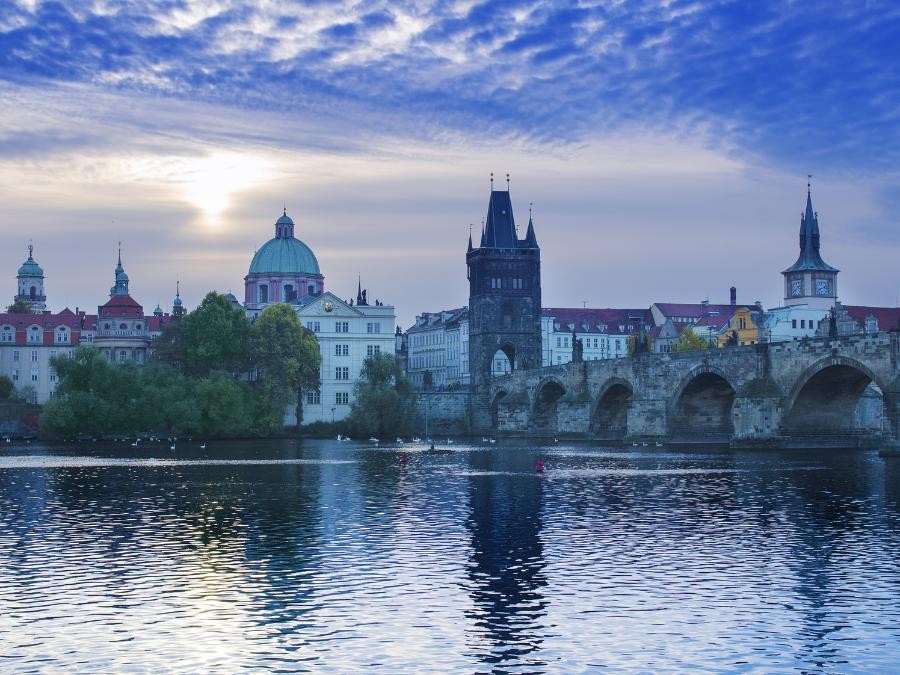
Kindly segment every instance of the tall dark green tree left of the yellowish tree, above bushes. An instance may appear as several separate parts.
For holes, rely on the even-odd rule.
[[[214,370],[236,376],[248,369],[250,322],[221,293],[210,292],[181,320],[185,372],[206,377]]]

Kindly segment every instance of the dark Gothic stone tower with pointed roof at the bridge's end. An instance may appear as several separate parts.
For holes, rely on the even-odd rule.
[[[524,239],[513,218],[509,185],[491,185],[478,248],[469,248],[469,370],[472,383],[490,382],[495,357],[510,370],[541,366],[541,250],[529,217]],[[499,352],[499,354],[498,354]],[[502,360],[502,359],[501,359]]]

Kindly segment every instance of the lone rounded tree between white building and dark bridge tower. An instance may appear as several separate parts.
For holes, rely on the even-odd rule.
[[[356,433],[379,438],[405,435],[416,416],[416,394],[393,354],[369,356],[363,362],[349,422]]]

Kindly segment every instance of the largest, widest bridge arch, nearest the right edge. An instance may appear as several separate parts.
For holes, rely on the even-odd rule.
[[[884,383],[861,361],[847,356],[821,359],[797,378],[784,408],[782,426],[788,433],[828,434],[854,429],[881,433],[875,420],[884,418],[885,391]],[[864,398],[868,411],[861,409]]]

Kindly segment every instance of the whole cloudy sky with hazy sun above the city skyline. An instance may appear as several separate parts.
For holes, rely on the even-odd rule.
[[[6,0],[0,288],[32,241],[93,310],[121,241],[148,311],[242,297],[286,207],[407,327],[466,304],[493,172],[544,306],[773,307],[812,174],[840,298],[896,306],[898,44],[877,0]]]

